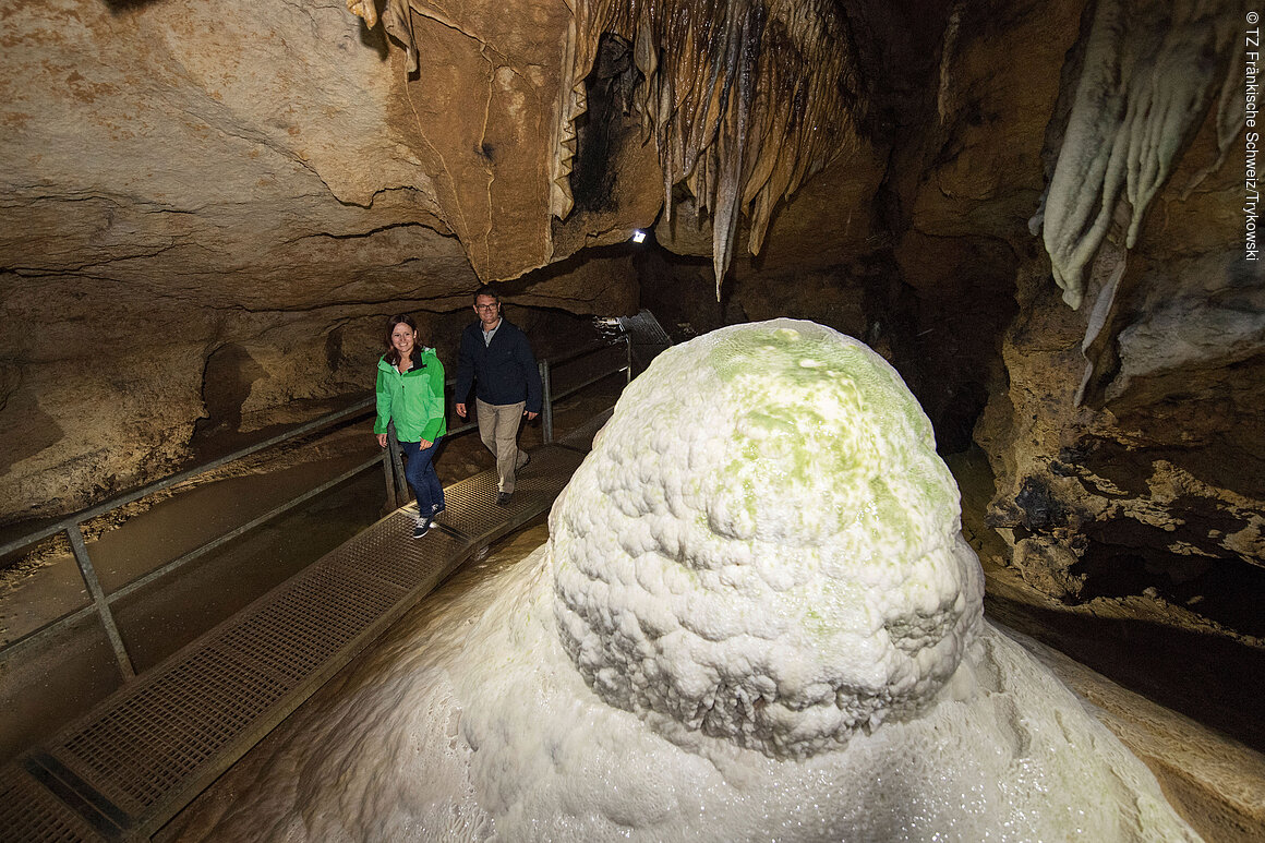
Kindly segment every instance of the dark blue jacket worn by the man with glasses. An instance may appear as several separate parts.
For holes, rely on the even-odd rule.
[[[491,344],[483,344],[483,325],[474,323],[462,332],[462,347],[457,354],[457,389],[454,404],[466,404],[471,394],[484,404],[517,404],[526,401],[528,413],[540,411],[540,371],[531,354],[528,335],[517,325],[501,316],[501,325],[492,334]]]

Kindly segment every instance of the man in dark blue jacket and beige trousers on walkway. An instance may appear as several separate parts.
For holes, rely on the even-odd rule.
[[[505,506],[514,494],[514,472],[528,465],[519,449],[519,424],[540,413],[540,372],[526,334],[501,316],[501,296],[484,284],[474,292],[478,322],[462,333],[457,356],[457,415],[466,418],[466,399],[474,385],[478,433],[496,456],[500,490],[496,503]]]

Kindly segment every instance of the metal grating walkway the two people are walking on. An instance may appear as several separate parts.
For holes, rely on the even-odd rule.
[[[496,473],[445,490],[425,538],[397,510],[0,768],[0,839],[148,839],[476,551],[546,511],[603,414],[531,454],[509,506]]]

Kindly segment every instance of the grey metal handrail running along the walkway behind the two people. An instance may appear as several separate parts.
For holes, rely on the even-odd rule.
[[[553,403],[554,401],[562,400],[563,397],[573,395],[573,394],[578,392],[579,390],[582,390],[582,389],[584,389],[587,386],[591,386],[591,385],[596,384],[597,381],[603,380],[606,377],[610,377],[611,375],[615,375],[617,372],[626,372],[627,380],[631,380],[631,377],[632,377],[632,346],[631,346],[631,340],[629,340],[626,337],[625,337],[625,340],[626,340],[626,354],[627,354],[627,361],[626,361],[625,366],[619,367],[619,368],[614,368],[614,370],[611,370],[608,372],[605,372],[605,373],[602,373],[602,375],[600,375],[597,377],[592,377],[588,381],[586,381],[584,384],[582,384],[579,386],[576,386],[576,387],[572,387],[571,390],[567,390],[565,392],[558,395],[557,397],[552,397],[550,396],[550,365],[553,365],[553,366],[560,366],[560,365],[568,363],[568,362],[571,362],[573,359],[577,359],[579,357],[583,357],[583,356],[587,356],[587,354],[592,354],[592,353],[596,353],[596,352],[611,348],[611,346],[608,346],[608,344],[589,346],[587,348],[577,349],[574,352],[571,352],[571,353],[568,353],[568,354],[565,354],[563,357],[554,358],[552,361],[550,359],[543,359],[543,361],[540,361],[540,372],[541,372],[541,377],[543,377],[543,389],[544,389],[544,406],[543,406],[541,415],[544,416],[544,440],[545,440],[546,444],[553,438]],[[445,387],[452,387],[453,384],[455,384],[455,377],[447,378],[445,382],[444,382],[444,386]],[[147,495],[152,495],[152,494],[154,494],[157,491],[162,491],[164,489],[170,489],[170,487],[172,487],[175,485],[185,482],[185,481],[187,481],[187,480],[190,480],[192,477],[197,477],[200,475],[204,475],[207,471],[218,468],[218,467],[220,467],[223,465],[226,465],[229,462],[233,462],[233,461],[237,461],[237,459],[242,459],[244,457],[248,457],[248,456],[250,456],[253,453],[257,453],[257,452],[263,451],[266,448],[269,448],[272,446],[276,446],[276,444],[291,440],[291,439],[296,439],[296,438],[302,437],[302,435],[305,435],[307,433],[311,433],[312,430],[319,430],[321,428],[330,427],[330,425],[333,425],[333,424],[335,424],[338,422],[342,422],[344,419],[354,418],[357,415],[361,415],[361,414],[366,413],[367,410],[369,410],[371,408],[373,408],[374,401],[376,401],[376,399],[373,399],[373,397],[369,397],[369,399],[366,399],[366,400],[362,400],[362,401],[357,401],[355,404],[353,404],[353,405],[350,405],[348,408],[344,408],[344,409],[338,410],[335,413],[329,413],[326,415],[323,415],[323,416],[320,416],[318,419],[314,419],[311,422],[301,424],[297,428],[287,430],[286,433],[271,437],[271,438],[264,439],[263,442],[258,442],[258,443],[256,443],[253,446],[249,446],[249,447],[245,447],[245,448],[240,448],[238,451],[234,451],[233,453],[229,453],[226,456],[219,457],[219,458],[213,459],[213,461],[210,461],[207,463],[204,463],[201,466],[195,466],[192,468],[186,468],[186,470],[180,471],[180,472],[177,472],[175,475],[171,475],[170,477],[164,477],[163,480],[158,480],[158,481],[154,481],[152,484],[147,484],[145,486],[142,486],[139,489],[132,490],[129,492],[124,492],[124,494],[116,495],[115,497],[110,497],[110,499],[108,499],[108,500],[105,500],[105,501],[102,501],[100,504],[95,504],[95,505],[90,506],[89,509],[81,510],[81,511],[75,513],[72,515],[66,515],[65,518],[61,518],[57,521],[53,521],[52,524],[47,524],[47,525],[44,525],[44,527],[39,528],[39,529],[35,529],[35,530],[33,530],[33,532],[30,532],[30,533],[28,533],[25,535],[22,535],[22,537],[19,537],[16,539],[11,539],[11,540],[9,540],[9,542],[6,542],[4,544],[0,544],[0,556],[5,556],[5,554],[11,553],[11,552],[14,552],[16,549],[20,549],[20,548],[24,548],[24,547],[29,547],[32,544],[35,544],[37,542],[40,542],[40,540],[47,539],[47,538],[49,538],[52,535],[56,535],[59,532],[65,532],[66,533],[66,538],[68,539],[68,542],[71,544],[71,551],[75,554],[75,561],[78,565],[80,575],[83,577],[83,584],[87,586],[89,594],[92,597],[92,603],[91,604],[89,604],[86,606],[81,606],[81,608],[75,609],[75,610],[71,610],[71,611],[68,611],[66,614],[62,614],[58,618],[56,618],[54,620],[51,620],[49,623],[44,624],[43,627],[40,627],[40,628],[38,628],[35,630],[32,630],[32,632],[29,632],[29,633],[19,637],[19,638],[16,638],[16,639],[14,639],[11,642],[8,642],[5,644],[0,644],[0,653],[4,653],[5,657],[11,657],[13,654],[15,654],[15,653],[25,649],[30,644],[34,644],[37,640],[43,639],[44,637],[47,637],[52,632],[54,632],[57,629],[61,629],[62,627],[66,627],[68,624],[78,623],[81,620],[86,619],[92,613],[96,613],[99,615],[100,620],[101,620],[101,625],[102,625],[102,628],[104,628],[104,630],[106,633],[106,637],[110,639],[110,644],[111,644],[111,647],[114,649],[114,654],[115,654],[115,659],[116,659],[118,666],[119,666],[120,675],[123,676],[123,678],[125,681],[130,680],[132,677],[135,676],[135,667],[132,663],[132,657],[128,653],[126,646],[124,644],[121,635],[119,634],[118,625],[115,624],[115,620],[114,620],[114,614],[110,610],[110,604],[114,603],[115,600],[119,600],[121,597],[125,597],[125,596],[130,595],[132,592],[137,591],[138,589],[143,587],[144,585],[147,585],[149,582],[153,582],[158,577],[162,577],[162,576],[166,576],[167,573],[171,573],[172,571],[182,567],[183,565],[194,561],[195,558],[197,558],[197,557],[200,557],[200,556],[202,556],[202,554],[205,554],[205,553],[207,553],[207,552],[210,552],[210,551],[213,551],[213,549],[215,549],[215,548],[225,544],[226,542],[230,542],[234,538],[238,538],[239,535],[243,535],[244,533],[247,533],[247,532],[249,532],[249,530],[259,527],[261,524],[264,524],[264,523],[272,520],[273,518],[277,518],[278,515],[282,515],[282,514],[290,511],[291,509],[295,509],[296,506],[299,506],[299,505],[301,505],[301,504],[311,500],[312,497],[315,497],[315,496],[318,496],[318,495],[328,491],[329,489],[333,489],[334,486],[336,486],[336,485],[339,485],[339,484],[342,484],[342,482],[344,482],[347,480],[350,480],[352,477],[359,475],[363,471],[367,471],[367,470],[372,468],[373,466],[376,466],[378,463],[382,463],[382,467],[383,467],[383,473],[385,473],[386,486],[387,486],[387,503],[392,506],[392,509],[397,509],[400,505],[402,505],[402,501],[404,503],[407,501],[407,499],[409,499],[409,487],[407,487],[407,485],[406,485],[406,482],[404,480],[404,466],[402,466],[401,457],[400,457],[400,443],[398,443],[398,440],[395,437],[395,428],[392,425],[390,428],[390,430],[388,430],[388,433],[391,434],[391,435],[388,435],[388,446],[390,447],[385,448],[381,454],[376,454],[372,459],[368,459],[368,461],[361,463],[359,466],[355,466],[355,467],[353,467],[353,468],[343,472],[338,477],[328,480],[328,481],[323,482],[321,485],[319,485],[319,486],[316,486],[314,489],[310,489],[310,490],[307,490],[307,491],[305,491],[305,492],[302,492],[302,494],[300,494],[300,495],[290,499],[288,501],[286,501],[286,503],[283,503],[283,504],[281,504],[278,506],[275,506],[273,509],[268,510],[267,513],[263,513],[262,515],[258,515],[258,516],[250,519],[245,524],[242,524],[242,525],[234,528],[233,530],[230,530],[228,533],[224,533],[224,534],[221,534],[221,535],[211,539],[210,542],[206,542],[206,543],[204,543],[204,544],[201,544],[201,546],[199,546],[199,547],[196,547],[196,548],[194,548],[194,549],[191,549],[191,551],[181,554],[180,557],[177,557],[177,558],[175,558],[175,559],[172,559],[170,562],[166,562],[166,563],[161,565],[159,567],[154,568],[153,571],[149,571],[148,573],[144,573],[144,575],[137,577],[135,580],[132,580],[132,581],[126,582],[125,585],[120,586],[119,589],[116,589],[115,591],[113,591],[110,594],[106,594],[105,590],[101,587],[101,585],[100,585],[100,582],[99,582],[99,580],[96,577],[96,571],[95,571],[95,568],[92,566],[91,557],[89,556],[87,547],[86,547],[86,544],[83,542],[83,532],[82,532],[81,524],[83,524],[85,521],[89,521],[89,520],[91,520],[91,519],[94,519],[94,518],[96,518],[99,515],[104,515],[105,513],[109,513],[109,511],[111,511],[114,509],[118,509],[119,506],[124,506],[124,505],[130,504],[133,501],[140,500],[142,497],[145,497]],[[460,425],[458,428],[454,428],[453,430],[449,430],[448,435],[449,437],[460,435],[462,433],[472,430],[476,427],[477,427],[477,423],[469,422],[469,423],[463,424],[463,425]]]

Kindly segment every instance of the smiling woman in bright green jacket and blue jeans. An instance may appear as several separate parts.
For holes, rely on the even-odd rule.
[[[444,414],[444,365],[434,348],[417,344],[417,324],[400,314],[387,322],[387,353],[378,361],[378,418],[373,433],[378,446],[387,447],[387,425],[395,422],[400,452],[405,458],[404,476],[417,497],[417,525],[414,538],[421,538],[444,511],[444,485],[431,462],[439,440],[448,433]]]

